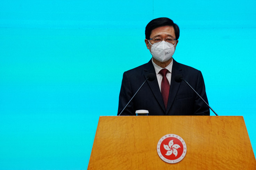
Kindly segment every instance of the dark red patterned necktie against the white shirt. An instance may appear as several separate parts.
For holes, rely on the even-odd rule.
[[[169,90],[170,84],[166,77],[168,70],[166,68],[159,71],[159,73],[163,76],[162,83],[161,83],[161,94],[163,97],[163,103],[165,103],[165,109],[167,108],[168,98],[169,98]]]

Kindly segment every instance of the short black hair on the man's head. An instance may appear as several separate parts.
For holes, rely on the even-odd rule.
[[[171,20],[170,18],[155,18],[153,20],[151,20],[146,28],[145,28],[145,36],[146,39],[149,40],[150,39],[150,35],[153,29],[158,28],[158,27],[162,27],[162,26],[173,26],[174,28],[174,33],[175,33],[175,38],[176,40],[178,40],[179,38],[179,26],[177,24],[175,24],[173,22],[173,20]]]

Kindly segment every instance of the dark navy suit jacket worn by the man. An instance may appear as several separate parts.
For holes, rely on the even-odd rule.
[[[131,97],[136,93],[149,73],[155,73],[154,66],[150,60],[148,63],[128,70],[123,73],[122,85],[119,95],[118,114],[123,110]],[[149,80],[136,94],[122,115],[136,115],[136,110],[148,110],[152,115],[210,115],[208,106],[195,94],[195,92],[184,82],[177,83],[175,75],[183,78],[195,89],[195,91],[208,103],[205,83],[201,71],[183,65],[173,59],[171,71],[171,83],[167,109],[163,103],[162,95],[157,78],[152,82]]]

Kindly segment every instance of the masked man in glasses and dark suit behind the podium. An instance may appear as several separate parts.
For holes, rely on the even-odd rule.
[[[145,28],[145,43],[152,59],[139,67],[123,73],[119,95],[118,114],[125,108],[149,73],[156,74],[153,81],[147,80],[136,94],[123,115],[136,115],[136,110],[148,110],[152,115],[210,115],[208,106],[184,82],[175,82],[182,77],[208,103],[201,71],[176,62],[172,56],[179,38],[179,27],[169,18],[156,18]]]

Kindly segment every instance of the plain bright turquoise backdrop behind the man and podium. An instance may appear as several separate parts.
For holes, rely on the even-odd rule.
[[[179,25],[174,59],[202,71],[220,116],[244,117],[255,152],[255,7],[254,0],[1,2],[0,169],[87,169],[99,116],[117,114],[123,72],[150,60],[144,31],[158,17]]]

